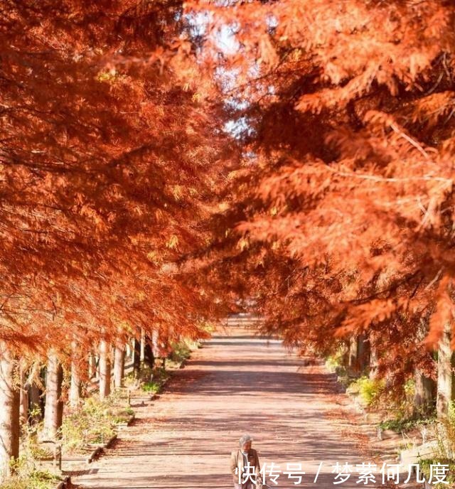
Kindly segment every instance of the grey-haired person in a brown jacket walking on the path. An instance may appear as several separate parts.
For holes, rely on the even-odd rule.
[[[257,451],[251,448],[252,437],[243,435],[239,440],[239,448],[230,454],[230,470],[234,480],[234,489],[256,489],[262,487]],[[250,466],[247,469],[247,466]],[[237,472],[236,469],[237,468]],[[244,474],[248,475],[244,475]],[[240,474],[240,478],[239,478]],[[253,482],[255,481],[255,482]]]

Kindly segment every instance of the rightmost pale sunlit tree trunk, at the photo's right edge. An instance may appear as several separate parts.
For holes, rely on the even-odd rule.
[[[439,419],[447,417],[449,414],[449,403],[452,392],[452,373],[451,373],[451,326],[450,323],[444,325],[444,331],[439,340],[438,346],[438,380],[437,380],[437,401],[436,411]]]

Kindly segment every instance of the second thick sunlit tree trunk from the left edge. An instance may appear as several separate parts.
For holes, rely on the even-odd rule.
[[[45,382],[44,432],[48,439],[60,434],[63,419],[62,396],[63,368],[54,350],[48,353]]]

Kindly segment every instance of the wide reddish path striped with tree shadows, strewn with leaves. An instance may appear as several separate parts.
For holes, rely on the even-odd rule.
[[[166,392],[139,407],[122,439],[73,481],[96,489],[230,489],[230,451],[247,432],[261,464],[279,465],[272,487],[365,487],[355,464],[371,459],[362,455],[367,439],[353,431],[358,416],[349,416],[349,407],[323,367],[306,366],[277,340],[231,328],[193,352]],[[334,485],[337,461],[353,473]],[[282,473],[287,463],[302,463],[301,484]]]

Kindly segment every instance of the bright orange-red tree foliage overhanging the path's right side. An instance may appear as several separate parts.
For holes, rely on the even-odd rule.
[[[205,66],[244,127],[222,273],[237,265],[235,287],[289,344],[328,351],[368,329],[390,369],[428,362],[419,331],[434,346],[454,314],[454,5],[188,10],[208,13]]]

